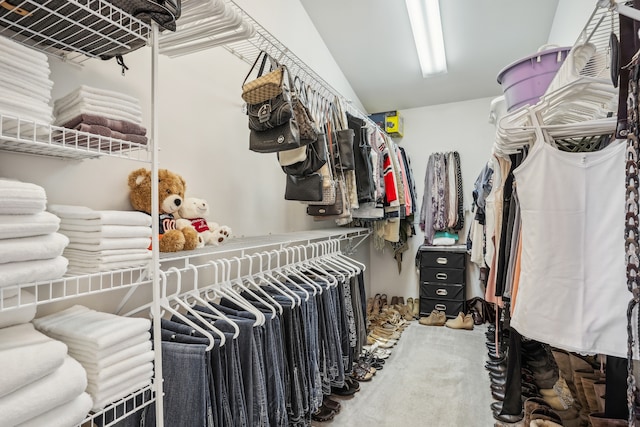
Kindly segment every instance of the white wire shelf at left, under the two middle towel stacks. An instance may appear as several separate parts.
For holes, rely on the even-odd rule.
[[[116,289],[150,284],[151,282],[148,268],[144,266],[7,286],[0,288],[0,312],[63,301],[73,297],[95,295]],[[20,293],[21,290],[32,294],[33,300],[25,300]]]

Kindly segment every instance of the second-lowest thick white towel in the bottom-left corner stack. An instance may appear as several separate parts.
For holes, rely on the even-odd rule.
[[[66,357],[53,373],[0,397],[0,425],[13,426],[71,401],[87,387],[86,373]]]

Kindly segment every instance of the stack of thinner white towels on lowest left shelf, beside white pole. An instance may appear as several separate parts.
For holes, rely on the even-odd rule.
[[[151,383],[151,321],[116,316],[76,305],[33,321],[36,328],[64,342],[87,372],[93,410]]]

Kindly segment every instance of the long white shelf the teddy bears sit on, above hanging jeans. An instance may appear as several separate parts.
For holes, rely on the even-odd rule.
[[[364,227],[354,228],[328,228],[302,232],[269,234],[265,236],[250,236],[232,238],[221,246],[205,246],[204,248],[178,253],[161,253],[160,263],[164,265],[182,261],[184,265],[200,265],[211,258],[220,258],[224,255],[234,254],[242,257],[267,249],[284,249],[293,245],[304,245],[325,240],[364,239],[369,236],[371,230]]]

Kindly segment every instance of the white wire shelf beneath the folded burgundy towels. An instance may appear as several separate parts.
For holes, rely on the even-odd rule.
[[[150,162],[150,145],[80,132],[0,113],[0,150],[63,159],[102,156]]]

